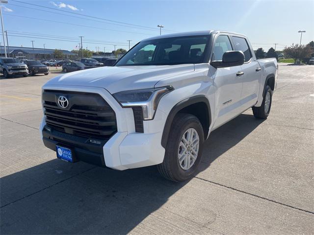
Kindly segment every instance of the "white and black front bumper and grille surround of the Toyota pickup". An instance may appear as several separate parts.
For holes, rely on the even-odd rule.
[[[86,139],[45,129],[45,117],[40,126],[44,144],[55,151],[55,145],[70,146],[78,160],[106,166],[117,170],[160,164],[165,149],[161,146],[162,130],[166,115],[158,111],[153,120],[144,121],[144,133],[136,133],[131,108],[120,104],[103,88],[44,86],[43,89],[88,92],[100,94],[114,110],[117,119],[117,132],[104,145],[86,143]]]

